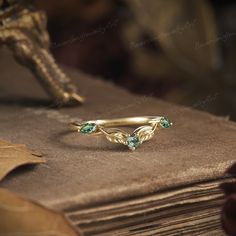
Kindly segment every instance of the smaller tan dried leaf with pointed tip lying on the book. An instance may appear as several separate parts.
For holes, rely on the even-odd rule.
[[[32,152],[24,144],[0,140],[0,180],[19,166],[44,163],[41,157],[41,154]]]

